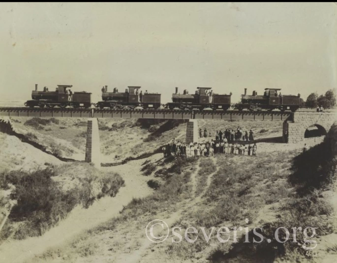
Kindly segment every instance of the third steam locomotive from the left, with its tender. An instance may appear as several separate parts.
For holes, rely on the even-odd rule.
[[[231,96],[227,94],[215,94],[212,88],[200,88],[198,87],[194,94],[188,94],[188,90],[184,90],[183,94],[172,94],[172,102],[167,104],[167,108],[174,109],[179,108],[181,110],[199,109],[202,111],[205,108],[211,108],[213,110],[228,110],[231,106]]]

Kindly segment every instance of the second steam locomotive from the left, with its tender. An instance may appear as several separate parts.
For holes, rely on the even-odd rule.
[[[127,89],[128,88],[128,89]],[[94,104],[96,108],[103,109],[134,109],[142,107],[143,109],[159,109],[160,96],[158,93],[139,93],[139,86],[128,86],[125,92],[118,92],[118,88],[114,88],[113,92],[108,92],[108,86],[102,88],[102,101]]]

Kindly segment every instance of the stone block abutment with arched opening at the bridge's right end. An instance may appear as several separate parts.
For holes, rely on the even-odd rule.
[[[316,126],[321,134],[326,135],[335,121],[337,121],[337,113],[293,113],[283,122],[283,142],[298,143],[303,141],[306,129],[310,126]],[[286,133],[288,133],[288,138]]]

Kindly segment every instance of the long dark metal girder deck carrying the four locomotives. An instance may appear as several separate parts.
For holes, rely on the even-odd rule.
[[[291,112],[251,112],[238,110],[169,110],[169,109],[74,109],[0,107],[0,116],[6,117],[97,117],[97,118],[154,118],[154,119],[226,119],[226,120],[285,120]]]

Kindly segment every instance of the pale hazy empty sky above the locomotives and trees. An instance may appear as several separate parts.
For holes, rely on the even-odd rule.
[[[73,91],[213,87],[232,102],[264,88],[337,87],[337,4],[0,3],[0,100],[34,84]]]

